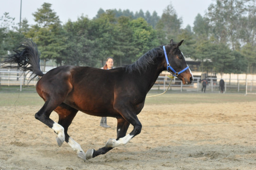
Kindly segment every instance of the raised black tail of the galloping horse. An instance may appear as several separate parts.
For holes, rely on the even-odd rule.
[[[40,69],[40,54],[36,44],[31,40],[26,40],[22,45],[14,50],[14,54],[5,57],[4,68],[20,68],[24,72],[32,71],[36,76],[43,76]],[[15,64],[6,66],[6,64]],[[17,65],[16,65],[17,64]]]

